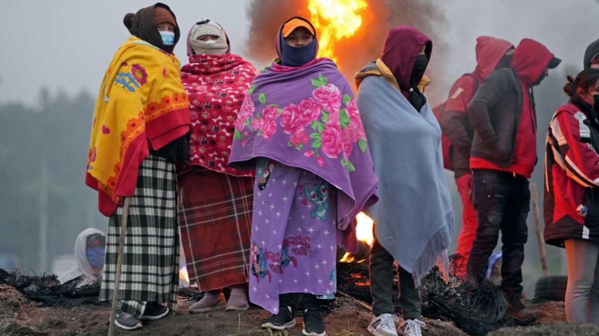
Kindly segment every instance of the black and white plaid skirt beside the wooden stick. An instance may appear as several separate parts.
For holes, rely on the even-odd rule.
[[[140,165],[131,197],[120,274],[119,300],[167,303],[175,310],[179,292],[177,176],[173,164],[149,155]],[[100,300],[111,301],[123,208],[110,217]],[[132,303],[129,303],[131,306]],[[144,307],[145,304],[138,305]],[[143,313],[143,311],[141,311]]]

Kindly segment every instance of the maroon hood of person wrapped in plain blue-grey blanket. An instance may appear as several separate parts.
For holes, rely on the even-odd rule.
[[[380,58],[391,70],[402,90],[410,90],[410,76],[420,48],[431,60],[432,41],[420,30],[411,26],[397,26],[389,29],[383,56]]]

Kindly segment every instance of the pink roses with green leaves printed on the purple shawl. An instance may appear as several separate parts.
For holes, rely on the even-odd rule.
[[[255,99],[247,96],[235,123],[234,138],[245,145],[249,129],[268,140],[277,133],[280,124],[283,133],[289,136],[287,145],[304,151],[307,160],[316,160],[320,167],[325,167],[325,158],[340,159],[341,165],[353,172],[355,167],[350,162],[350,155],[354,145],[359,146],[362,154],[367,149],[356,100],[343,94],[334,84],[328,84],[323,75],[313,78],[312,84],[312,97],[305,97],[297,105],[279,106],[268,103],[264,93],[253,94],[257,97],[256,104],[264,105],[262,112],[257,114]]]

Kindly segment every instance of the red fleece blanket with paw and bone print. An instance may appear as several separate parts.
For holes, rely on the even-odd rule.
[[[234,176],[253,176],[252,171],[226,164],[237,114],[256,75],[256,68],[235,54],[189,56],[189,64],[181,68],[191,115],[189,159],[180,172],[190,164]]]

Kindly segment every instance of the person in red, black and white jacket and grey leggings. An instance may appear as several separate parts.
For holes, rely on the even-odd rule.
[[[565,246],[568,322],[599,324],[599,227],[588,197],[599,186],[599,69],[568,76],[564,91],[570,102],[553,114],[546,138],[544,236]]]

